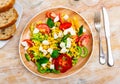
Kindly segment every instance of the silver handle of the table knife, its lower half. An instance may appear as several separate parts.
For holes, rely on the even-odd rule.
[[[110,38],[107,38],[107,54],[108,54],[108,65],[112,67],[114,65],[113,56],[111,51]]]

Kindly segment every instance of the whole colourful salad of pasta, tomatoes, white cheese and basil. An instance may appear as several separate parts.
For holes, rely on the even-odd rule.
[[[64,73],[88,55],[90,35],[75,16],[49,11],[45,20],[30,25],[30,38],[21,43],[24,56],[40,73]]]

